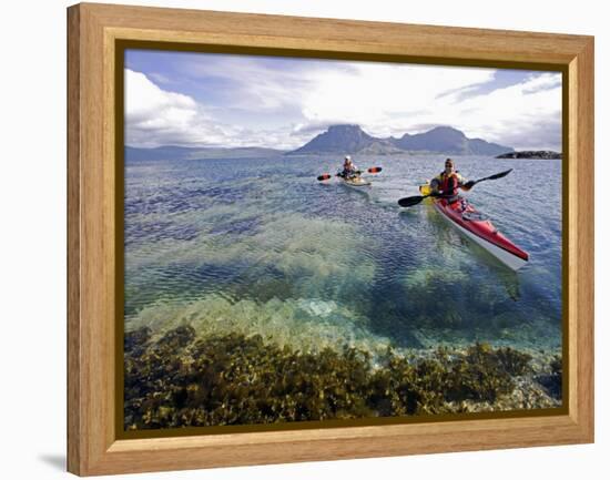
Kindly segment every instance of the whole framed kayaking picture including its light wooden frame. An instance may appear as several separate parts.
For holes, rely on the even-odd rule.
[[[592,38],[68,23],[71,472],[593,441]]]

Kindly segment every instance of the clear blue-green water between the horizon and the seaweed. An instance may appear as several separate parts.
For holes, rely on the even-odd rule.
[[[466,193],[530,262],[512,273],[423,203],[399,197],[443,156],[380,165],[366,191],[315,178],[329,157],[151,161],[125,167],[125,328],[258,333],[298,348],[382,351],[561,343],[561,162],[454,157]]]

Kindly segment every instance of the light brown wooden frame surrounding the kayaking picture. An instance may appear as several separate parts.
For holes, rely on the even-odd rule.
[[[120,41],[220,51],[458,65],[552,65],[565,73],[565,379],[561,415],[121,439],[115,282]],[[228,49],[228,50],[227,50]],[[68,9],[68,470],[80,476],[401,456],[593,441],[593,38],[212,11]],[[122,368],[122,366],[120,366]]]

